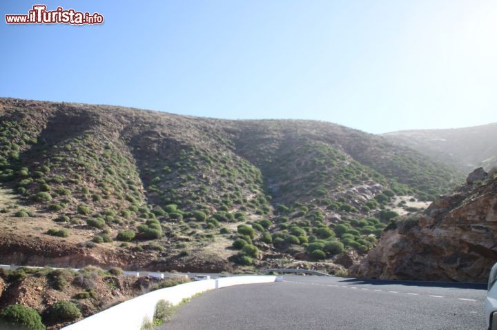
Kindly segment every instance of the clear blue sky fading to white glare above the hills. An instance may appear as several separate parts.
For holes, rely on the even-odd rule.
[[[7,25],[36,3],[103,25]],[[372,133],[497,121],[497,1],[0,2],[0,96]]]

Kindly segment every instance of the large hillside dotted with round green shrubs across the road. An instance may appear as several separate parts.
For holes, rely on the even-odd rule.
[[[391,218],[462,182],[316,121],[0,99],[0,141],[0,263],[17,265],[339,271],[344,250],[360,258]]]

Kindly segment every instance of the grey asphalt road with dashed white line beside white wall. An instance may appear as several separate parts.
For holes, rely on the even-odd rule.
[[[484,330],[483,285],[284,276],[209,291],[162,330]]]

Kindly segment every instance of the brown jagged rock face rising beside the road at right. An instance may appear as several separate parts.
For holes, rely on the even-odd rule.
[[[497,262],[497,177],[477,169],[467,182],[422,214],[389,225],[376,248],[351,267],[350,274],[486,282]]]

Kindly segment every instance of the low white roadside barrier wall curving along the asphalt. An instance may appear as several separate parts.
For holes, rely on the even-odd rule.
[[[177,305],[185,298],[191,298],[197,293],[212,289],[231,287],[232,285],[280,282],[281,280],[280,276],[232,276],[215,280],[189,282],[152,291],[143,296],[121,302],[119,305],[89,316],[84,320],[62,328],[62,330],[139,330],[145,319],[153,320],[155,305],[159,300],[164,299],[172,305]]]

